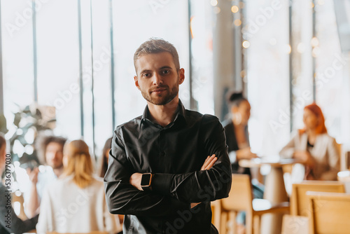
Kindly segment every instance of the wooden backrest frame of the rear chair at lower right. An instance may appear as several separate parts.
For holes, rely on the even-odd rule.
[[[345,188],[344,184],[339,181],[303,181],[301,184],[293,184],[290,198],[290,214],[309,216],[310,210],[307,203],[307,191],[345,193]]]

